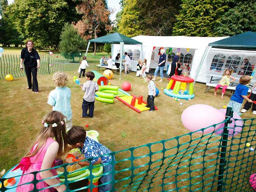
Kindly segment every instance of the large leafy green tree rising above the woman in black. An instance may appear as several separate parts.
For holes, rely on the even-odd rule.
[[[15,0],[11,12],[16,29],[25,38],[34,40],[38,48],[57,48],[66,7],[64,0]]]

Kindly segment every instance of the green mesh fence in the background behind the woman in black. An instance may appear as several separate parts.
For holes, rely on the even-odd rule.
[[[40,68],[38,74],[51,74],[57,71],[74,71],[78,70],[80,61],[82,61],[81,53],[40,53]],[[87,54],[88,69],[95,69],[100,64],[102,55]],[[26,76],[25,72],[20,71],[20,55],[4,54],[0,57],[0,79],[4,79],[7,74],[12,74],[14,78]]]

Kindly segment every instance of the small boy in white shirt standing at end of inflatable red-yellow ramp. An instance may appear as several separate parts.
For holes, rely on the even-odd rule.
[[[156,96],[156,85],[154,81],[152,81],[153,76],[151,74],[146,76],[146,81],[148,82],[148,98],[147,105],[145,107],[149,107],[149,111],[152,112],[155,110],[154,99]]]

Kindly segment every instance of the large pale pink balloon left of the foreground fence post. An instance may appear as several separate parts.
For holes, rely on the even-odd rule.
[[[181,115],[181,120],[188,130],[191,132],[206,128],[213,124],[218,124],[225,119],[225,115],[218,111],[216,108],[204,105],[196,104],[186,108]],[[218,128],[217,125],[216,128]],[[214,131],[214,126],[211,126],[204,130],[204,133],[210,133]],[[202,131],[196,133],[202,134]]]

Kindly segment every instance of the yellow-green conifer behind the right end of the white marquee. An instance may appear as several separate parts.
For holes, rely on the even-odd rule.
[[[222,15],[228,9],[230,0],[182,0],[179,14],[173,28],[173,35],[216,36]]]

